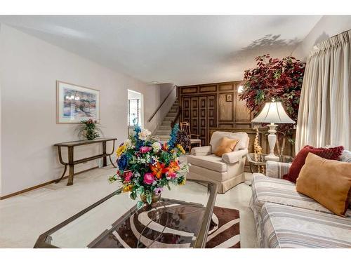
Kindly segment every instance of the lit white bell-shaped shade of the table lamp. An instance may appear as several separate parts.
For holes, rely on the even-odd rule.
[[[282,102],[266,102],[265,107],[255,119],[254,123],[295,123],[286,114]]]

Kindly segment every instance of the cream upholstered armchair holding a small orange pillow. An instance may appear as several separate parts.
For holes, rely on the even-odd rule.
[[[234,151],[218,157],[214,154],[222,137],[237,139]],[[207,180],[218,184],[218,193],[225,193],[232,187],[245,182],[244,166],[248,153],[249,136],[247,133],[214,132],[210,145],[195,147],[187,162],[190,163],[187,178]]]

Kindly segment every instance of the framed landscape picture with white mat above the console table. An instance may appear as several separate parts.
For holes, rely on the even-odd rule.
[[[100,119],[100,90],[56,81],[57,123]]]

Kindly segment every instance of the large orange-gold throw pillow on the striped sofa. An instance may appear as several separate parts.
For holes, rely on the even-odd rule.
[[[310,196],[336,215],[345,215],[351,192],[351,163],[307,155],[296,191]]]

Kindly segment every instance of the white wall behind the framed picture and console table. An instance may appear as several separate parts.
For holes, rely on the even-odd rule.
[[[74,124],[56,124],[55,81],[100,90],[100,124],[106,137],[127,136],[127,89],[144,95],[145,119],[159,105],[159,86],[150,86],[66,50],[1,25],[1,196],[58,178],[63,166],[53,144],[77,140]],[[145,127],[153,130],[159,114]],[[84,146],[76,159],[98,153]],[[76,172],[97,162],[77,166]]]

